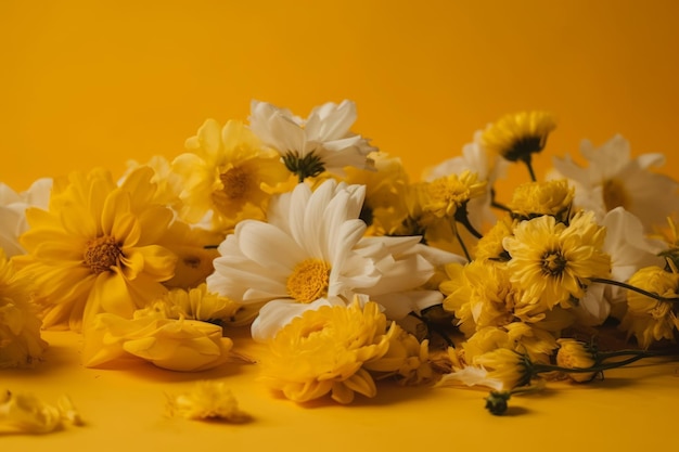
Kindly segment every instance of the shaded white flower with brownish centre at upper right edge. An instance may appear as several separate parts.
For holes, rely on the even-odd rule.
[[[653,225],[666,224],[667,217],[679,210],[679,184],[651,171],[665,163],[662,154],[643,154],[632,159],[629,143],[620,135],[599,148],[585,140],[580,154],[588,167],[578,166],[566,155],[554,158],[554,168],[575,186],[574,204],[594,211],[598,220],[615,207],[624,207],[639,217],[650,232]]]

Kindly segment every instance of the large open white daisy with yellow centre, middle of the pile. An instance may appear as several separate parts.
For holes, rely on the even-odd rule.
[[[426,304],[431,294],[414,289],[434,269],[417,253],[419,237],[362,240],[363,195],[362,185],[326,180],[315,192],[298,184],[274,198],[268,223],[242,221],[221,243],[208,289],[264,304],[253,323],[256,340],[272,337],[306,310],[346,306],[357,295],[367,301],[402,290],[394,300],[408,304],[408,311]]]

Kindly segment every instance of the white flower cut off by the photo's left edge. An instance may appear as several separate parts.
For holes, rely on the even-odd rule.
[[[0,248],[8,257],[26,254],[18,243],[20,235],[28,229],[26,209],[47,208],[51,189],[51,179],[38,179],[22,193],[0,183]]]

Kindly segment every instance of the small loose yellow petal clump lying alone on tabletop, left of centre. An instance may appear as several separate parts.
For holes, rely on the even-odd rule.
[[[238,400],[223,382],[197,382],[190,390],[167,396],[167,412],[170,416],[188,419],[220,419],[243,423],[251,417],[239,408]]]

